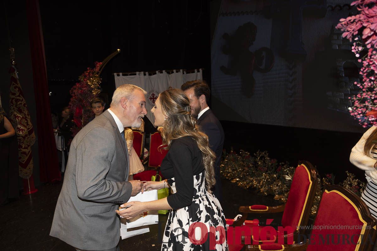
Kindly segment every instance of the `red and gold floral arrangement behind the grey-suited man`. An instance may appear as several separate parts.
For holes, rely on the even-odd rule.
[[[100,94],[101,78],[97,75],[101,67],[101,62],[95,62],[94,68],[87,68],[78,79],[80,82],[75,84],[69,93],[71,99],[69,108],[74,114],[73,120],[75,122],[72,130],[72,136],[75,137],[78,131],[83,128],[91,117],[93,112],[90,109],[90,102]]]

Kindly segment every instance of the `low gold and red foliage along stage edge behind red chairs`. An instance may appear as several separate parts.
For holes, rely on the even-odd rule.
[[[257,190],[258,195],[274,195],[275,200],[286,202],[295,170],[288,162],[278,163],[276,159],[268,157],[267,151],[257,151],[251,156],[248,152],[241,150],[239,154],[234,151],[224,154],[220,173],[222,178],[231,180],[244,189],[252,187]],[[348,171],[346,174],[347,178],[339,185],[361,196],[365,183],[356,179],[355,175]],[[333,174],[326,174],[326,177],[321,179],[311,214],[314,215],[317,212],[323,186],[334,184],[334,181]]]

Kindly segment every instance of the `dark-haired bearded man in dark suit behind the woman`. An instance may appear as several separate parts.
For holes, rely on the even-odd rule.
[[[213,194],[219,201],[222,201],[221,180],[220,180],[220,162],[222,147],[224,145],[224,130],[220,121],[216,118],[208,107],[210,99],[210,88],[205,81],[194,80],[188,81],[181,86],[182,91],[190,100],[191,116],[198,119],[198,125],[208,136],[208,142],[211,150],[216,154],[215,161],[215,179],[216,184],[213,188]]]

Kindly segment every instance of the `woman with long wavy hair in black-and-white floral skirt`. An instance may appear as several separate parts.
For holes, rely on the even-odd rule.
[[[161,250],[228,250],[224,213],[211,192],[215,184],[213,163],[216,157],[208,146],[207,135],[191,116],[189,99],[183,91],[169,88],[159,94],[151,112],[155,126],[164,126],[162,143],[169,151],[161,163],[161,172],[167,181],[149,181],[144,184],[144,190],[170,186],[173,194],[157,201],[125,203],[122,207],[130,207],[117,213],[131,219],[143,211],[172,209]],[[217,231],[216,236],[208,234],[205,242],[195,242],[200,239],[195,236],[195,228],[190,228],[195,222],[207,227],[202,236],[210,227],[220,227],[217,229],[222,231]],[[215,247],[210,247],[211,238],[217,243]]]

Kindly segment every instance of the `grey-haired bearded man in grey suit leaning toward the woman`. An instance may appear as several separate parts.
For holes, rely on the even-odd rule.
[[[109,110],[72,140],[51,236],[77,250],[120,250],[115,210],[143,187],[141,181],[128,181],[124,127],[140,127],[147,114],[145,94],[135,85],[121,85]]]

